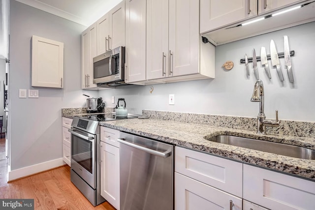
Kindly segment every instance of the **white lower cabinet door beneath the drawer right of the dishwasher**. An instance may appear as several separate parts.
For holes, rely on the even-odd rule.
[[[175,172],[175,210],[242,210],[242,199]]]

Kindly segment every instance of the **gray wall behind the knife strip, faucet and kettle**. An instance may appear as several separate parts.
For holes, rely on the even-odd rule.
[[[153,85],[154,91],[149,92],[150,86],[132,86],[116,90],[101,90],[106,106],[114,107],[111,96],[126,99],[128,112],[141,114],[143,109],[165,110],[175,112],[204,113],[216,115],[231,115],[256,117],[258,103],[251,102],[255,77],[250,64],[251,76],[246,75],[245,65],[240,59],[245,53],[252,57],[253,48],[260,55],[260,47],[266,47],[270,54],[270,40],[276,42],[278,52],[284,52],[283,36],[289,38],[290,50],[295,51],[292,57],[292,68],[295,83],[288,82],[284,59],[281,59],[284,82],[279,82],[276,68],[269,61],[272,79],[269,80],[264,68],[258,62],[260,79],[265,87],[265,114],[267,118],[275,118],[275,110],[279,110],[279,118],[286,120],[315,121],[315,70],[313,67],[315,46],[315,22],[279,30],[264,35],[232,42],[216,47],[216,78]],[[232,60],[234,67],[223,70],[222,64]],[[168,105],[168,94],[175,94],[175,105]]]

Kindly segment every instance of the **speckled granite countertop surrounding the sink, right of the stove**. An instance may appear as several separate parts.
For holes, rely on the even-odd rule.
[[[280,134],[258,135],[255,131],[233,129],[207,124],[180,122],[158,119],[128,119],[103,121],[100,125],[129,133],[173,143],[189,149],[209,152],[242,161],[244,163],[266,167],[276,171],[307,178],[315,181],[315,160],[287,157],[258,150],[251,150],[221,143],[211,142],[217,135],[233,135],[265,141],[303,146],[315,150],[315,139]]]

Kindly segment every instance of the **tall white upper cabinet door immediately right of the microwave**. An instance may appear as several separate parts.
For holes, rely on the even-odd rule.
[[[146,80],[146,0],[126,0],[126,82]]]

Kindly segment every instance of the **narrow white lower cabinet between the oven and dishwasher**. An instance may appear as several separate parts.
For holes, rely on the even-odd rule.
[[[100,127],[100,195],[117,210],[120,209],[119,133]]]

